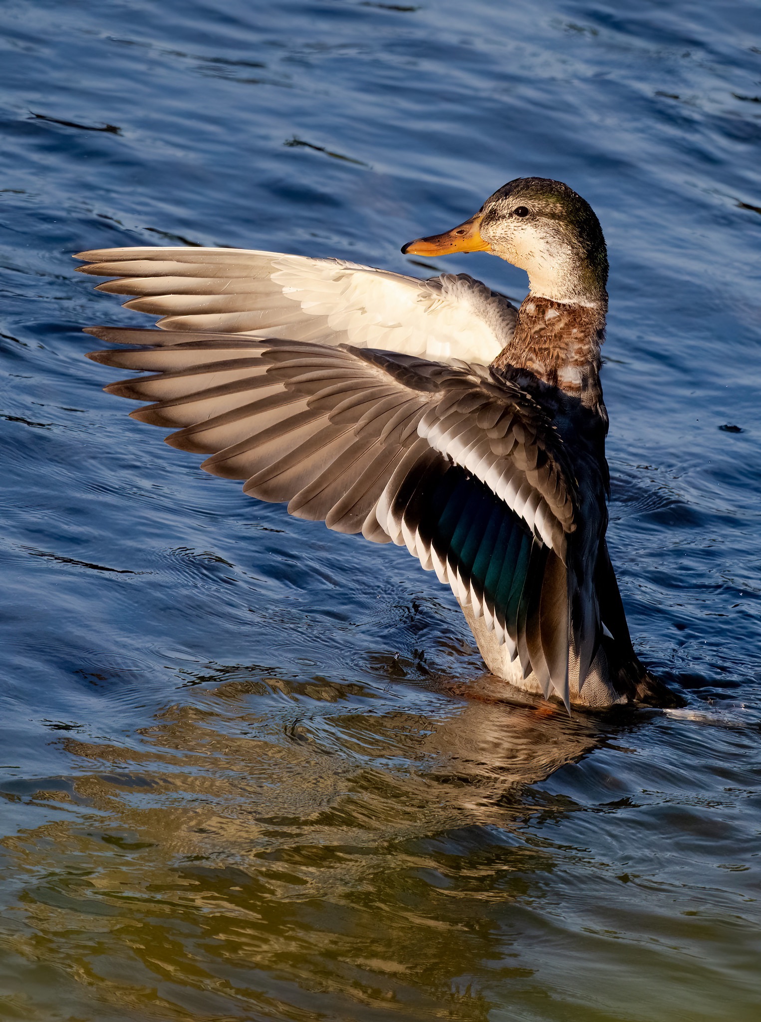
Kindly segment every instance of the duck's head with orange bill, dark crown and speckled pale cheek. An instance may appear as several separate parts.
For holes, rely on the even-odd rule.
[[[528,273],[532,294],[578,305],[605,304],[608,253],[589,203],[562,181],[516,178],[464,224],[416,238],[416,256],[487,251]]]

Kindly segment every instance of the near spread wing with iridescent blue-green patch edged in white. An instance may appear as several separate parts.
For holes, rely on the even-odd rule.
[[[546,413],[481,365],[238,334],[96,327],[111,393],[168,443],[300,518],[407,546],[525,675],[568,696],[573,476]]]

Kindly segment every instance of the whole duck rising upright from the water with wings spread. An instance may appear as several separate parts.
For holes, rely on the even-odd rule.
[[[591,206],[518,178],[401,251],[490,252],[526,271],[528,294],[516,308],[467,274],[340,259],[101,248],[79,272],[159,318],[87,327],[120,345],[88,357],[142,373],[105,390],[212,475],[406,547],[506,691],[569,711],[678,705],[634,652],[606,543],[608,256]]]

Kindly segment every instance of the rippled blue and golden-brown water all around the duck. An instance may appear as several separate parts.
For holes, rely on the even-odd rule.
[[[759,4],[0,25],[0,1018],[758,1018]],[[83,358],[83,325],[143,318],[74,251],[426,276],[399,245],[521,175],[608,238],[610,543],[684,710],[500,701],[406,551],[204,475]]]

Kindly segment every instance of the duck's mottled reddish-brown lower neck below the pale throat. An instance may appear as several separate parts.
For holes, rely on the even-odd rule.
[[[604,412],[600,346],[607,306],[607,297],[575,305],[529,294],[518,310],[512,340],[491,365],[498,370],[526,369],[585,407]]]

